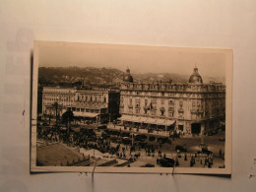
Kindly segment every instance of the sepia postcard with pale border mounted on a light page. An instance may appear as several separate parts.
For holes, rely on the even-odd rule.
[[[34,41],[31,171],[231,173],[232,50]]]

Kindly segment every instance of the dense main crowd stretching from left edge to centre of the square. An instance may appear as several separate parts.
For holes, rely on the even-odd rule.
[[[102,137],[103,136],[103,137]],[[127,136],[127,135],[126,135]],[[46,142],[60,142],[71,147],[80,147],[85,150],[95,149],[102,154],[109,153],[115,155],[120,159],[133,159],[136,160],[141,157],[141,154],[145,154],[148,157],[155,157],[156,150],[161,148],[159,145],[149,145],[146,142],[136,141],[123,142],[121,134],[115,138],[116,133],[102,131],[101,134],[96,134],[94,129],[80,129],[79,131],[73,131],[58,127],[45,127],[37,126],[37,139],[44,140]],[[161,152],[159,150],[159,157],[161,158]]]

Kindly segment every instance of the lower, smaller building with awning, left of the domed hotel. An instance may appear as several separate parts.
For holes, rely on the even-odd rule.
[[[79,121],[106,122],[119,115],[120,93],[116,90],[92,88],[75,89],[44,87],[42,91],[42,116],[61,116],[72,110]]]

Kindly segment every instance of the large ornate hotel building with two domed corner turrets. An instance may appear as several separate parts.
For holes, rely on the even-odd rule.
[[[125,126],[203,134],[225,116],[225,86],[204,84],[194,68],[188,83],[134,83],[127,70],[120,87],[119,120]]]

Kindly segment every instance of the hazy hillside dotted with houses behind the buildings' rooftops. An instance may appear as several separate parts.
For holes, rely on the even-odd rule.
[[[96,67],[39,67],[38,81],[40,84],[84,84],[84,85],[117,85],[122,82],[124,72],[115,68],[96,68]],[[169,81],[187,83],[188,75],[173,73],[132,73],[135,81],[156,82]],[[204,77],[204,83],[210,81],[224,83],[224,78]]]

